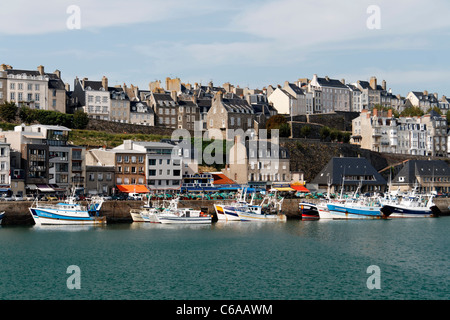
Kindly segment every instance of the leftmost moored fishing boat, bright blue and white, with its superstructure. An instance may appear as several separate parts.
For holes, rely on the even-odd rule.
[[[100,197],[92,198],[86,206],[74,196],[56,204],[42,204],[36,197],[29,210],[36,225],[94,225],[106,223],[106,217],[99,216],[102,204]]]

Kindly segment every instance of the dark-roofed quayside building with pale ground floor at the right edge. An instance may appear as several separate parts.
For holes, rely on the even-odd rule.
[[[409,160],[392,179],[391,190],[450,192],[450,167],[442,160]]]

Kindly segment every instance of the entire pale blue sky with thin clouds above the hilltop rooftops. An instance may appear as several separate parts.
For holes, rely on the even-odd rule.
[[[71,5],[80,29],[67,28]],[[318,74],[450,96],[449,17],[448,0],[15,0],[0,10],[0,63],[59,69],[71,86],[105,75],[262,88]]]

